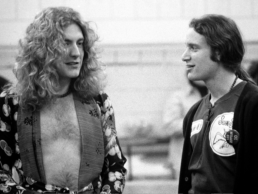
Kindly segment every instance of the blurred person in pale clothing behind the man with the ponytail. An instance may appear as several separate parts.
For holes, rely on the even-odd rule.
[[[187,75],[187,74],[186,74]],[[203,81],[188,80],[183,89],[173,92],[166,102],[163,116],[163,130],[170,134],[168,150],[168,167],[172,170],[172,178],[179,177],[183,149],[183,120],[188,110],[202,97],[208,94]]]

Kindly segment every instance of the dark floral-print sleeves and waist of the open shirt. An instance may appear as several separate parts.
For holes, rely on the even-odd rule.
[[[99,177],[89,185],[85,185],[83,189],[72,192],[69,188],[37,182],[32,177],[24,175],[16,122],[18,99],[12,93],[2,92],[0,94],[0,193],[122,193],[127,173],[124,168],[126,158],[117,139],[113,107],[106,94],[98,95],[94,100],[101,113],[105,146],[104,164]]]

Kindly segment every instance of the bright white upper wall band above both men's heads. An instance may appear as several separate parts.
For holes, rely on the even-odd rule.
[[[49,6],[70,6],[96,22],[104,44],[182,42],[189,20],[207,13],[230,16],[245,40],[258,41],[257,0],[1,0],[0,45],[17,45]]]

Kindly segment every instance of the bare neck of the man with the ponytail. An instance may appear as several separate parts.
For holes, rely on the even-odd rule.
[[[205,85],[211,93],[210,102],[212,106],[219,98],[230,91],[235,79],[236,75],[233,72],[223,71],[222,73],[217,74],[216,78],[205,81]],[[243,80],[238,78],[234,86],[239,84],[241,81]]]

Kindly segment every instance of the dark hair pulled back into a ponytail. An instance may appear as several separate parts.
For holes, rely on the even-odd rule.
[[[189,27],[205,36],[211,47],[212,61],[221,62],[240,79],[254,83],[250,75],[241,67],[245,47],[240,30],[232,19],[222,15],[208,14],[192,19]]]

